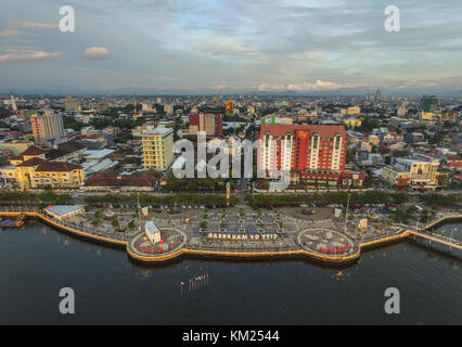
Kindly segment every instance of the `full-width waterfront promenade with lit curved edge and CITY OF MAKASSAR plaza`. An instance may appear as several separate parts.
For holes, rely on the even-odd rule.
[[[209,217],[214,220],[219,214],[211,213]],[[448,236],[429,232],[432,228],[448,220],[460,220],[462,216],[450,215],[431,222],[421,230],[408,226],[394,227],[387,230],[374,232],[356,233],[351,230],[343,230],[342,223],[330,219],[319,221],[307,221],[283,214],[248,214],[246,219],[232,213],[228,215],[231,227],[227,231],[213,229],[216,232],[201,232],[198,230],[200,218],[191,218],[188,222],[178,220],[156,219],[156,223],[163,231],[162,244],[152,245],[143,232],[118,232],[113,228],[93,227],[81,220],[66,221],[57,220],[44,213],[38,211],[33,206],[1,206],[0,217],[23,217],[42,221],[57,230],[67,232],[81,239],[99,243],[117,245],[125,248],[128,255],[138,261],[146,264],[162,264],[177,259],[181,256],[216,257],[234,259],[271,259],[271,258],[306,258],[326,265],[345,265],[357,260],[361,252],[401,240],[428,240],[429,244],[446,245],[449,249],[462,249],[460,241]],[[252,233],[241,235],[232,233],[234,222],[239,224],[246,222],[252,226],[253,218],[265,221],[268,230],[264,234]],[[283,222],[285,230],[278,233],[273,226],[273,219]],[[242,226],[241,223],[241,226]],[[215,227],[214,227],[215,228]]]

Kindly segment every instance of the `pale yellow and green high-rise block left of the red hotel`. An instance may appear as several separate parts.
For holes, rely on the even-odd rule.
[[[166,170],[174,162],[174,129],[158,127],[142,134],[144,168]]]

